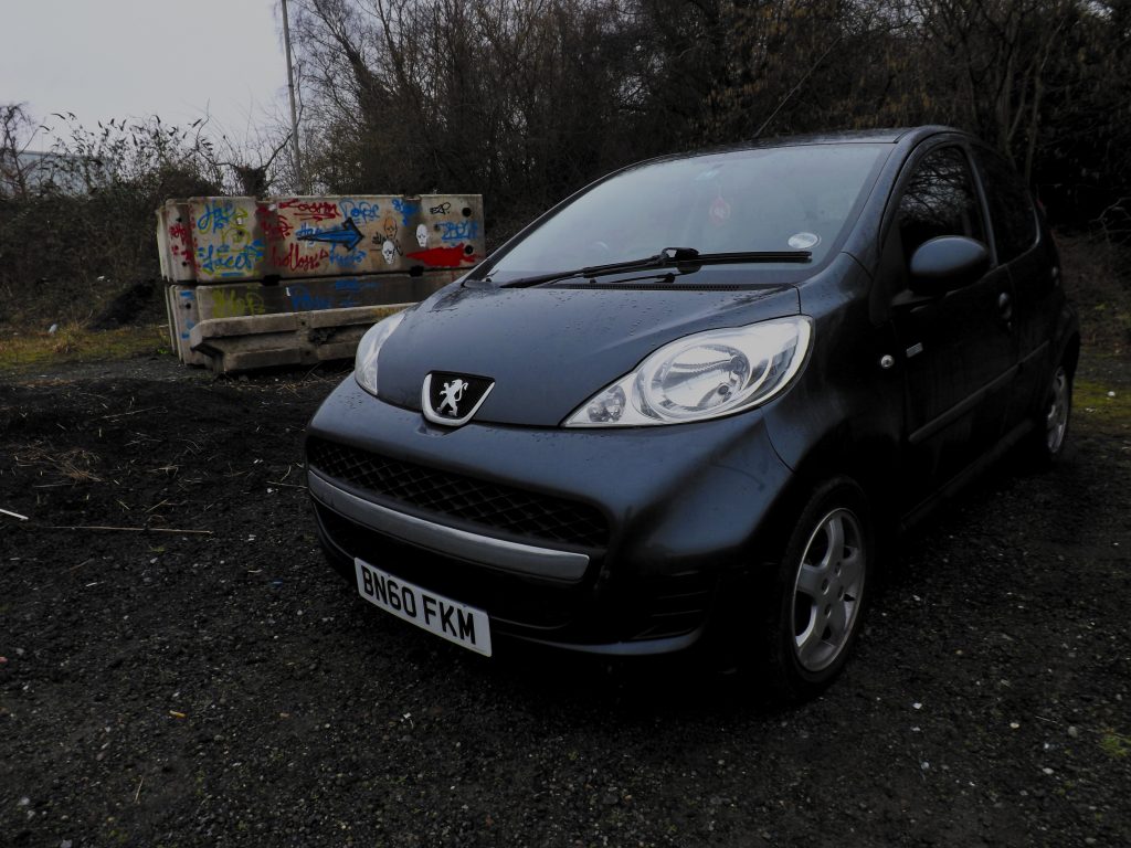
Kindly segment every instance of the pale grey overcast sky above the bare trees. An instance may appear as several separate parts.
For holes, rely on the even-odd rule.
[[[235,142],[290,120],[280,0],[2,0],[0,104],[74,112],[89,129],[206,113]],[[292,12],[293,14],[293,12]],[[49,148],[50,140],[34,149]]]

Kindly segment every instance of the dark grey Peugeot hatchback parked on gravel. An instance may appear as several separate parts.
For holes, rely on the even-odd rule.
[[[966,133],[667,156],[373,327],[310,493],[362,597],[466,648],[710,637],[806,695],[884,539],[1061,453],[1079,345],[1041,213]]]

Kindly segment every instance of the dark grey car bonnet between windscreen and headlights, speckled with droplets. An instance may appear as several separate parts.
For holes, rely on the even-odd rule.
[[[420,409],[429,373],[485,377],[494,388],[475,421],[556,426],[668,341],[798,311],[791,286],[640,291],[454,284],[408,312],[385,343],[379,393]]]

